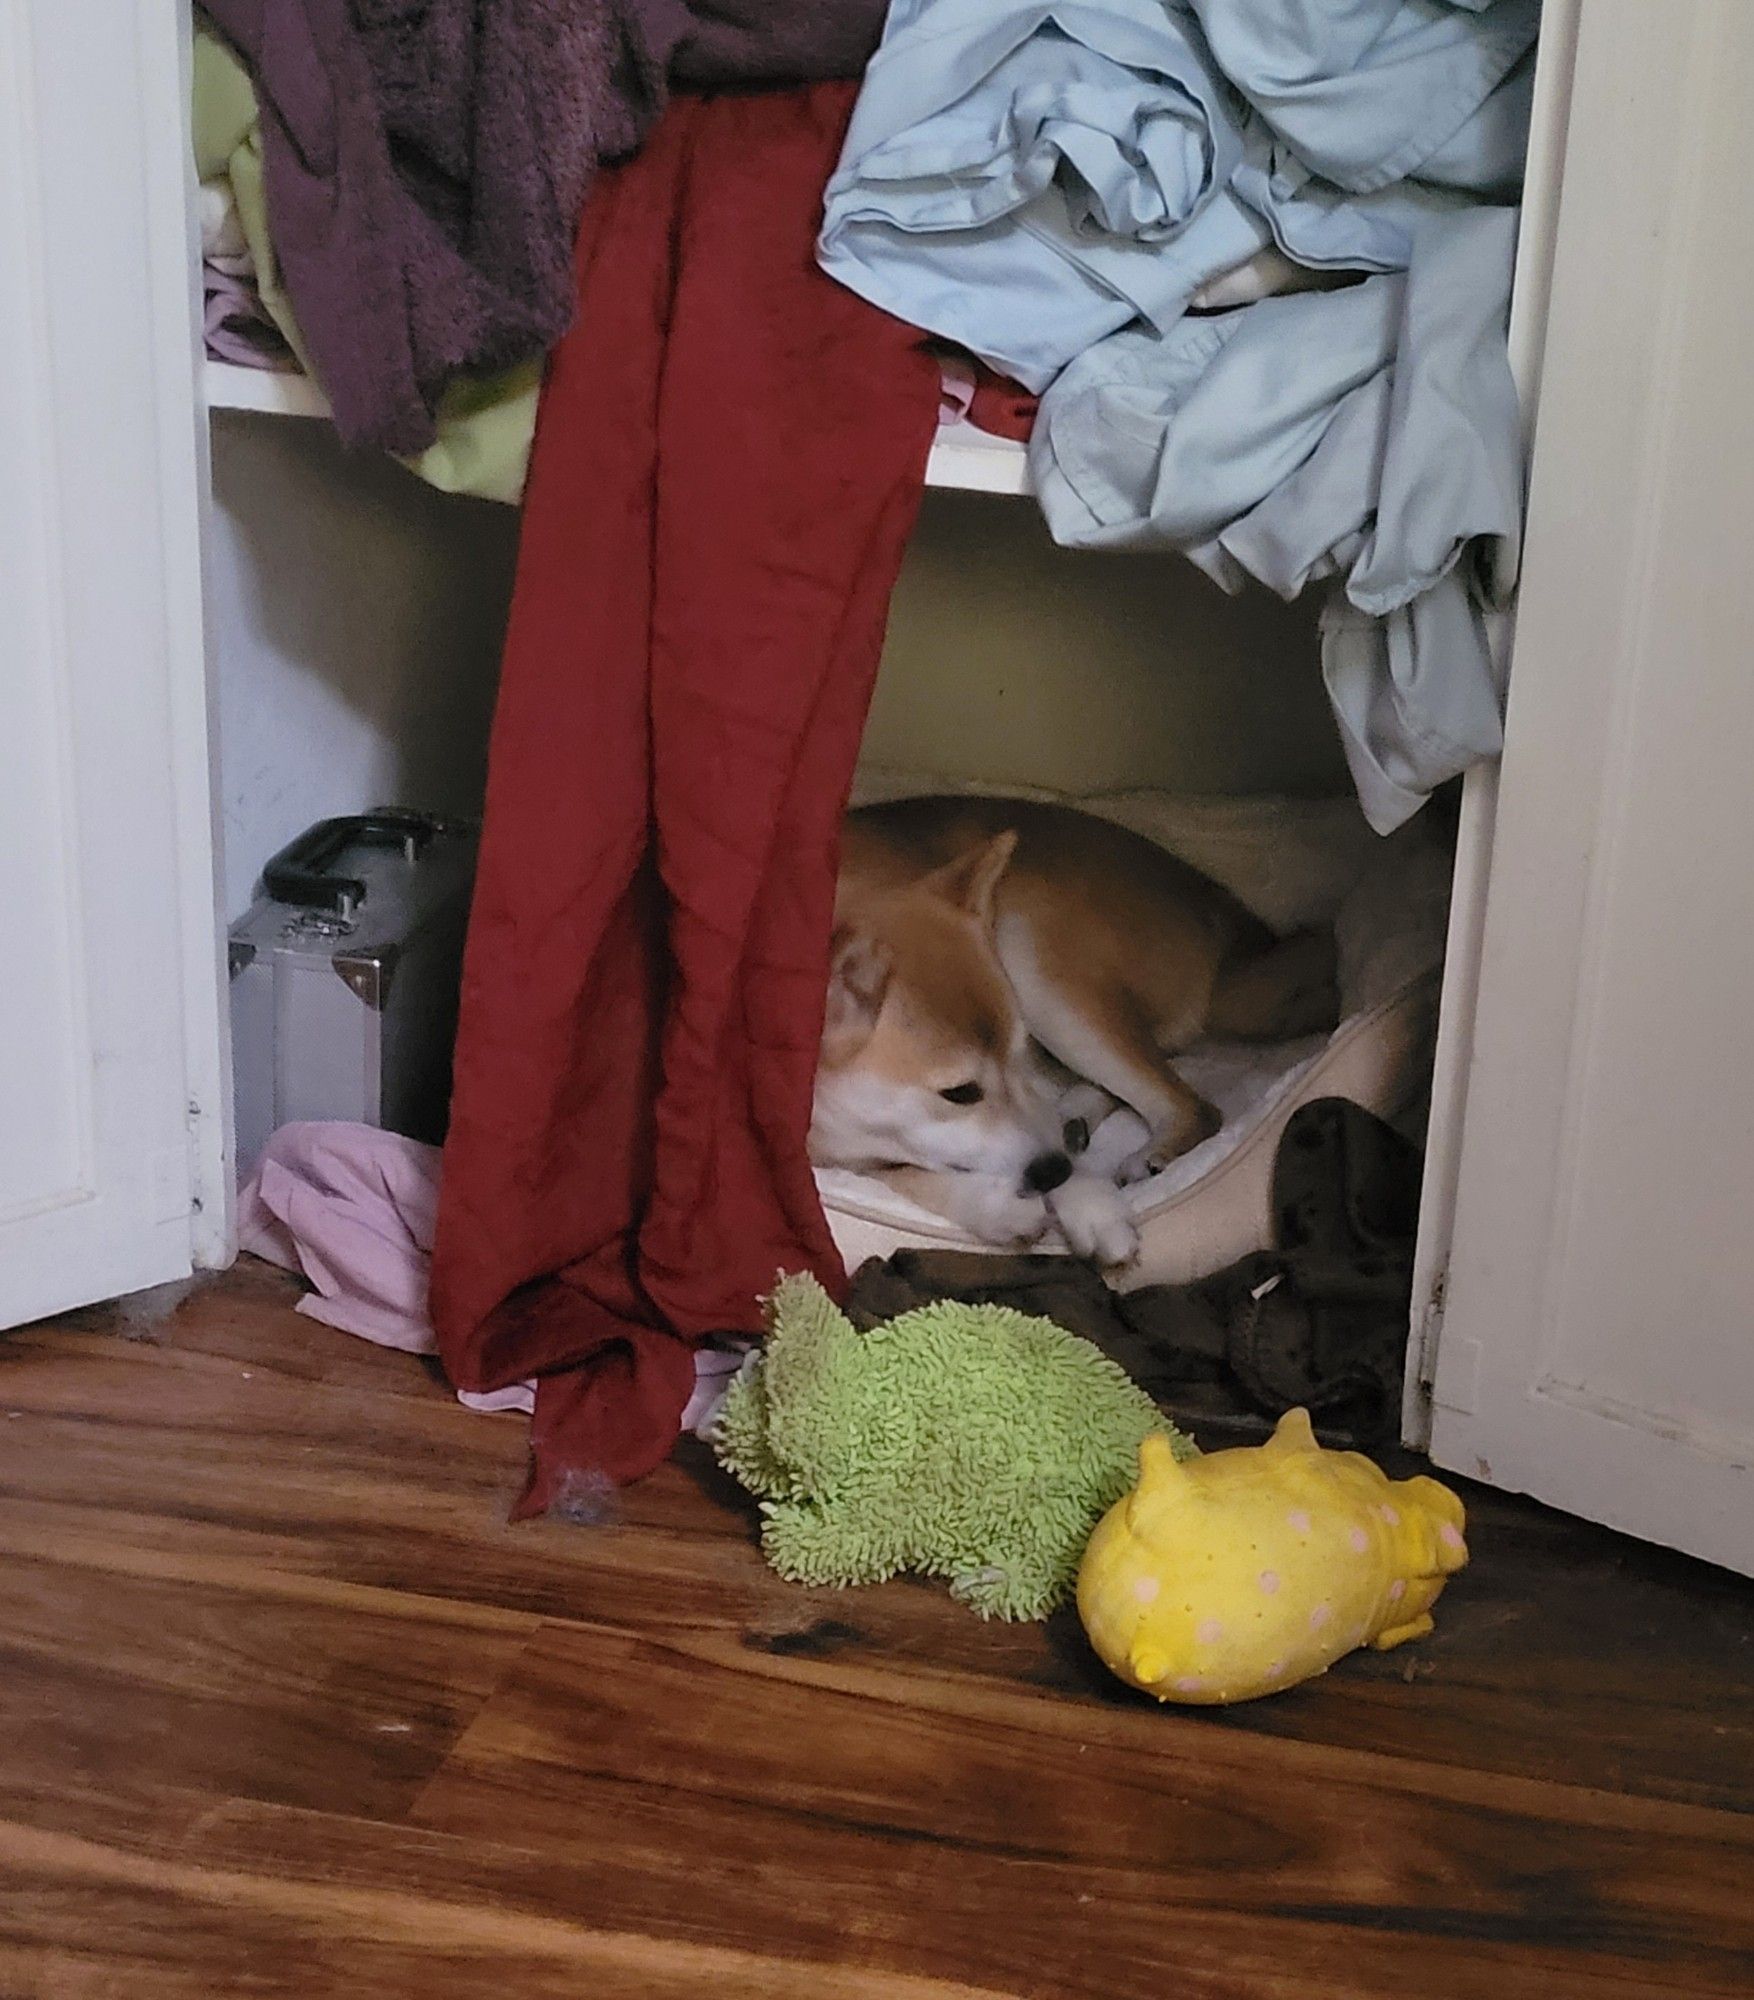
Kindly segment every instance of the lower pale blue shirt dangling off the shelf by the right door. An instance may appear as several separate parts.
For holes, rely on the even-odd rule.
[[[1226,590],[1332,578],[1322,674],[1380,832],[1500,746],[1484,612],[1514,582],[1504,348],[1516,210],[1428,220],[1406,276],[1126,328],[1042,398],[1030,470],[1072,548],[1178,548]]]

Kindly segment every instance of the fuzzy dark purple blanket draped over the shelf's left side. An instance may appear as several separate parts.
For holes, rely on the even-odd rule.
[[[862,72],[880,0],[202,0],[256,76],[274,248],[350,444],[550,348],[590,178],[696,86]]]

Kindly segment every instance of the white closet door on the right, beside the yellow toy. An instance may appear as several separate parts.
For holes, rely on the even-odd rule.
[[[1588,0],[1432,1454],[1754,1572],[1748,0]]]

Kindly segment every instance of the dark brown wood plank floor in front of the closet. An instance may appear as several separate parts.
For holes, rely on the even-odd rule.
[[[1230,1714],[1076,1620],[778,1582],[698,1456],[246,1268],[0,1342],[0,1996],[1754,1992],[1754,1588],[1486,1494],[1434,1640]]]

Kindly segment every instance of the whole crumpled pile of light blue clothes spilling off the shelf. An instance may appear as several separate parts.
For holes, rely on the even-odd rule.
[[[894,0],[828,186],[826,270],[1040,392],[1060,542],[1178,548],[1226,590],[1328,582],[1322,668],[1380,830],[1500,746],[1538,20]]]

